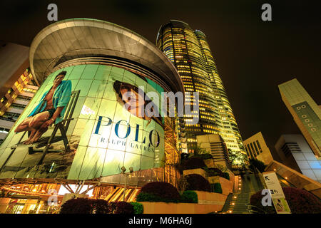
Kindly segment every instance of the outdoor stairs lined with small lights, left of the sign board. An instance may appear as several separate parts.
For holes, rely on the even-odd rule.
[[[236,192],[228,195],[222,213],[249,214],[247,204],[250,204],[250,197],[264,189],[258,174],[245,174],[237,178],[235,184],[239,186]]]

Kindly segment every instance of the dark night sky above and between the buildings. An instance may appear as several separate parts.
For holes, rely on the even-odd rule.
[[[297,78],[321,105],[321,4],[317,1],[13,1],[1,0],[0,40],[30,46],[47,20],[48,4],[58,20],[110,21],[156,43],[170,19],[203,31],[232,105],[243,140],[261,131],[270,150],[282,134],[300,133],[277,85]],[[261,6],[272,6],[262,21]]]

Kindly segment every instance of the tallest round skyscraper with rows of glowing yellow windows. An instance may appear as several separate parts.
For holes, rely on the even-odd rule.
[[[231,152],[245,153],[233,110],[218,75],[206,36],[183,21],[171,20],[158,31],[158,48],[178,69],[186,92],[199,92],[198,124],[189,124],[193,116],[184,116],[188,148],[196,143],[196,135],[219,134]],[[185,104],[195,102],[185,96]]]

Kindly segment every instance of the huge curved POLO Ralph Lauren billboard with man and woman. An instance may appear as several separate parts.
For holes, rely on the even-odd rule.
[[[0,178],[90,180],[119,174],[123,166],[163,167],[163,118],[141,113],[146,106],[161,113],[162,92],[116,66],[51,73],[0,147]]]

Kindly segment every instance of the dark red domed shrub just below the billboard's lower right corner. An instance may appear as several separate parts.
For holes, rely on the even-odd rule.
[[[149,193],[164,199],[163,202],[178,202],[180,194],[178,190],[167,182],[149,182],[141,188],[141,193]]]

